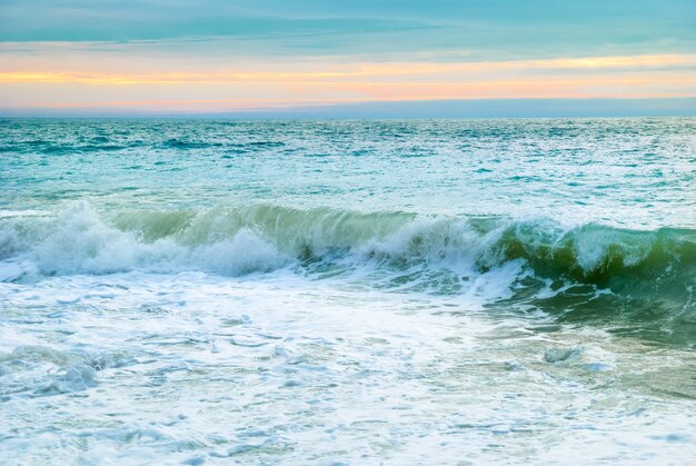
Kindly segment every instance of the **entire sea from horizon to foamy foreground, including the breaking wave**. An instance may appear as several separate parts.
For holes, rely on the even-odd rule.
[[[2,464],[693,464],[696,119],[0,121]]]

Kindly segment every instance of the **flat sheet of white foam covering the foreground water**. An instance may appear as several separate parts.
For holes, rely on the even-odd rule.
[[[687,351],[646,351],[591,328],[536,333],[528,327],[546,317],[476,311],[479,297],[505,296],[497,285],[519,266],[483,275],[468,297],[356,290],[287,271],[0,284],[6,309],[21,309],[0,326],[0,456],[495,463],[550,460],[547,449],[597,460],[694,454],[684,435],[696,427],[693,403],[665,404],[642,386],[655,367],[674,370],[672,383],[686,379]],[[583,350],[549,361],[549,348]],[[616,389],[597,390],[606,385]],[[501,439],[505,449],[490,448]]]

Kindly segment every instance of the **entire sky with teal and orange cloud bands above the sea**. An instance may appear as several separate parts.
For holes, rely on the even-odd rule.
[[[0,115],[696,115],[696,1],[0,0]]]

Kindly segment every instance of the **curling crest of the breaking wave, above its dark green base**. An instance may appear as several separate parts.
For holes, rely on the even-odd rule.
[[[240,275],[321,262],[473,276],[523,260],[539,277],[607,285],[617,276],[655,280],[693,272],[696,231],[594,224],[565,229],[544,219],[269,205],[100,215],[77,202],[56,217],[0,219],[0,258],[29,260],[47,275],[132,269]]]

